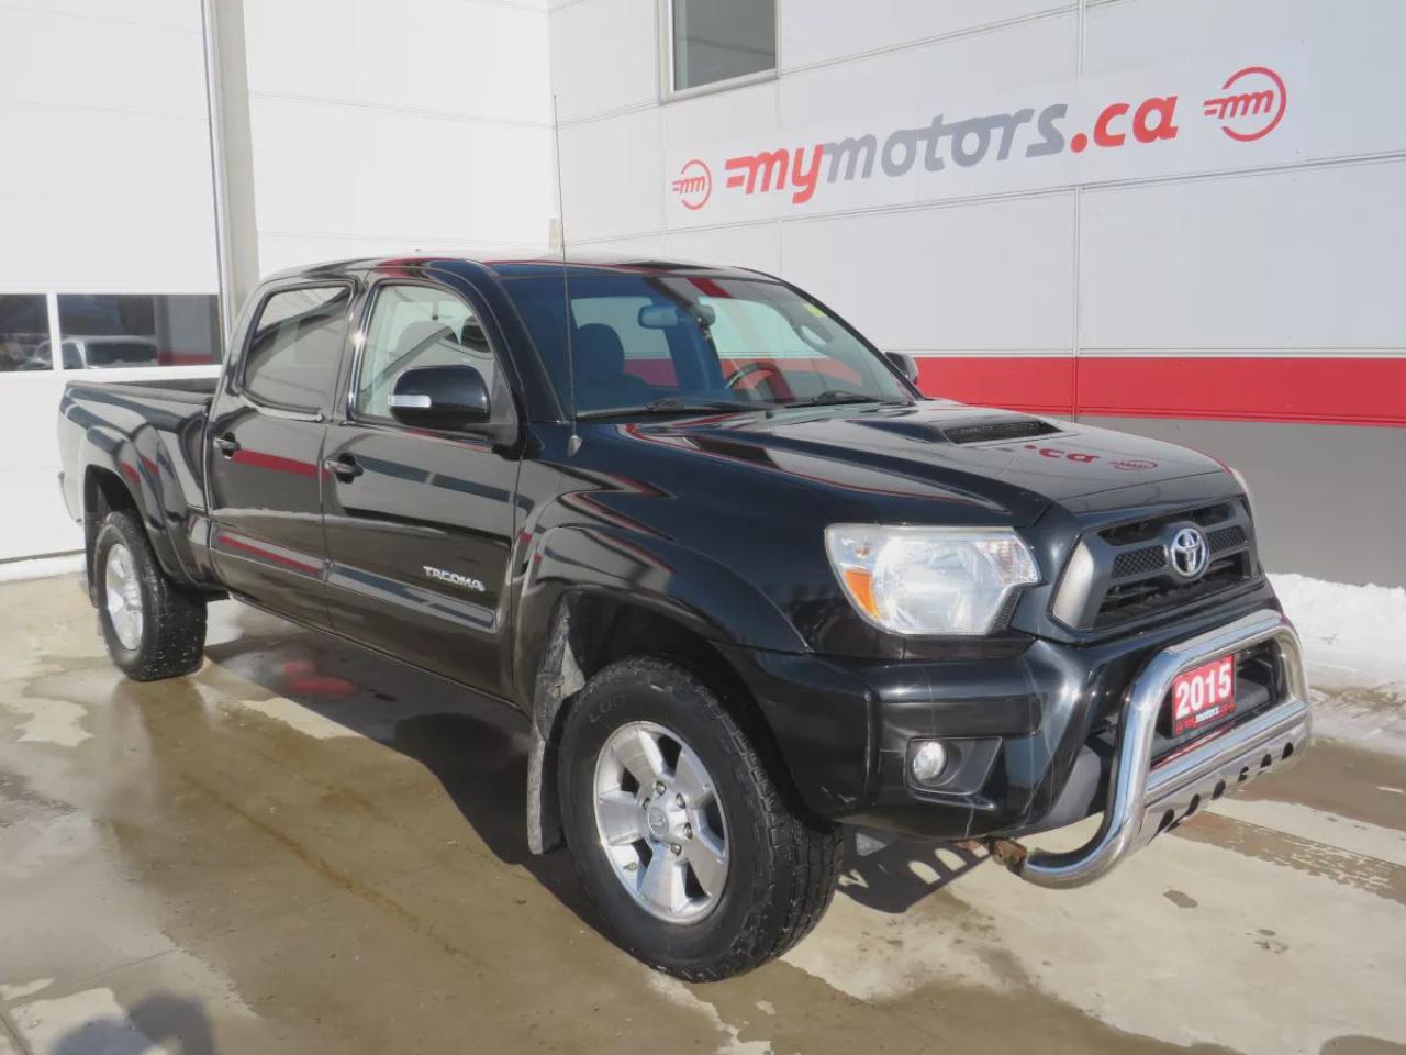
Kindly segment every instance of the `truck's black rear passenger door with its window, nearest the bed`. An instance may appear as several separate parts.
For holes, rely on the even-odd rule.
[[[212,549],[231,592],[328,626],[322,445],[350,284],[271,287],[209,416]]]

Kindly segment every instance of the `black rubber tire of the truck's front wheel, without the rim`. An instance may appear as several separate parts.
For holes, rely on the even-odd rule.
[[[652,916],[600,845],[596,758],[621,726],[675,731],[702,760],[727,819],[727,878],[693,923]],[[718,692],[662,658],[628,658],[596,674],[562,729],[558,784],[567,843],[609,937],[633,957],[690,982],[751,971],[786,952],[820,921],[842,862],[839,829],[799,816]]]

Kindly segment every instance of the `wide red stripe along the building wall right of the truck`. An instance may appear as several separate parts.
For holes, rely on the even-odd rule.
[[[918,367],[929,395],[1036,414],[1406,426],[1406,359],[931,356]]]

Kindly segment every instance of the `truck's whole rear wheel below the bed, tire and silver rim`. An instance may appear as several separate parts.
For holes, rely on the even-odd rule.
[[[107,515],[90,567],[103,640],[128,678],[159,681],[200,668],[205,598],[162,571],[135,513]]]

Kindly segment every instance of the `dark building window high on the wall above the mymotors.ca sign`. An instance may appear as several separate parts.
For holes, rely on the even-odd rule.
[[[673,91],[776,69],[776,0],[668,0]]]

